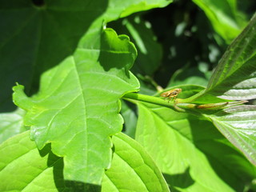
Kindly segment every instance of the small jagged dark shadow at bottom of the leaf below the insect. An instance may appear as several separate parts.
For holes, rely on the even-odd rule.
[[[190,176],[190,167],[187,167],[182,174],[163,174],[163,176],[166,179],[170,190],[174,192],[179,191],[176,187],[186,189],[194,184],[194,179]]]

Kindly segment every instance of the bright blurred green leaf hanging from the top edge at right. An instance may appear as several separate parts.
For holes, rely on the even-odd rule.
[[[193,0],[209,18],[214,30],[231,42],[238,36],[246,20],[236,6],[236,0]]]

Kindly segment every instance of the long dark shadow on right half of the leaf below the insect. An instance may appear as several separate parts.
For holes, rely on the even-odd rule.
[[[245,184],[253,179],[254,166],[211,122],[190,119],[190,126],[194,145],[206,155],[214,172],[235,191],[242,191]]]

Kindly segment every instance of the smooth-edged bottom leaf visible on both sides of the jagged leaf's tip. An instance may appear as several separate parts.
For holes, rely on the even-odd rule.
[[[169,191],[160,170],[142,146],[125,134],[113,137],[114,160],[100,186],[65,181],[63,159],[50,151],[38,151],[29,131],[0,145],[0,190],[4,191]],[[133,155],[134,158],[130,158]],[[26,173],[26,174],[24,174]],[[122,174],[123,177],[117,177]]]

